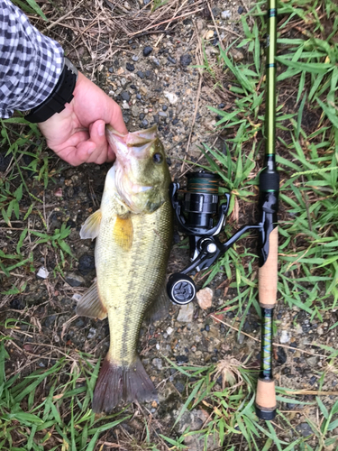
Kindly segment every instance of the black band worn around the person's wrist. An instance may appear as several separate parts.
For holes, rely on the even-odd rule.
[[[39,106],[32,108],[25,119],[32,123],[43,123],[50,119],[52,115],[60,113],[73,99],[73,93],[78,80],[78,69],[69,61],[64,59],[64,66],[61,71],[58,83]]]

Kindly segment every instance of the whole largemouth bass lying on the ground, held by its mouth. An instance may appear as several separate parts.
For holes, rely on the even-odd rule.
[[[87,218],[81,238],[96,238],[96,283],[77,313],[108,317],[110,348],[98,375],[93,410],[120,401],[154,400],[157,393],[136,346],[146,310],[162,296],[172,239],[170,175],[156,125],[106,136],[116,161],[108,171],[100,209]]]

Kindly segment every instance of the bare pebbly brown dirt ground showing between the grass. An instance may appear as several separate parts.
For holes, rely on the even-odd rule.
[[[198,9],[200,6],[195,6],[194,2],[190,3],[191,8]],[[58,4],[61,6],[59,16],[67,14],[69,5],[66,2]],[[90,6],[89,0],[82,6],[86,4]],[[127,2],[126,4],[128,5]],[[85,14],[86,18],[82,6],[73,11],[74,17],[79,18],[81,14]],[[101,7],[108,8],[105,3],[102,3]],[[212,7],[215,21],[222,32],[221,39],[223,38],[224,47],[227,47],[242,36],[240,18],[249,8],[249,4],[247,0],[244,3],[236,0],[220,2]],[[89,27],[90,21],[86,22],[84,19],[83,23],[87,23]],[[41,22],[38,25],[43,29]],[[92,38],[95,38],[97,24],[93,30]],[[202,161],[198,148],[201,143],[221,145],[213,129],[216,122],[215,113],[207,106],[218,106],[222,109],[224,99],[218,97],[215,91],[206,85],[200,78],[198,68],[194,67],[199,62],[196,60],[196,35],[207,36],[216,43],[216,33],[210,33],[214,30],[212,17],[203,10],[187,16],[182,22],[178,21],[174,27],[170,27],[168,34],[146,34],[128,41],[124,39],[121,41],[120,50],[118,42],[115,42],[113,49],[109,47],[111,41],[105,40],[104,33],[102,39],[97,42],[97,49],[94,45],[89,47],[85,42],[86,35],[80,39],[71,21],[69,27],[52,27],[49,34],[55,39],[59,34],[58,39],[71,60],[122,106],[123,117],[130,131],[146,128],[151,124],[159,125],[160,138],[168,153],[172,179],[182,183],[184,174],[192,168],[187,161]],[[151,47],[151,53],[144,56],[143,51],[147,46]],[[104,61],[97,58],[97,50],[107,52],[110,57]],[[236,52],[235,58],[245,58],[244,51]],[[208,46],[206,54],[211,59],[215,58],[216,47]],[[187,161],[182,164],[184,159]],[[34,196],[43,199],[41,215],[48,225],[49,233],[63,223],[71,227],[67,243],[76,259],[67,257],[64,277],[59,272],[53,274],[59,263],[56,260],[57,253],[41,244],[33,250],[34,274],[24,274],[20,271],[19,276],[2,279],[4,290],[9,290],[14,281],[17,283],[23,278],[28,282],[22,294],[6,296],[1,300],[3,324],[6,318],[30,323],[22,323],[20,330],[5,330],[5,334],[13,336],[17,344],[8,345],[11,358],[6,367],[7,373],[16,373],[23,368],[28,372],[34,368],[48,367],[58,357],[57,352],[50,354],[50,346],[59,348],[62,352],[77,353],[77,350],[80,350],[96,357],[104,357],[109,345],[107,320],[78,318],[75,315],[77,300],[95,277],[95,244],[80,240],[79,229],[87,216],[100,205],[109,165],[85,164],[72,168],[56,159],[52,164],[55,182],[50,179],[47,189],[36,180],[30,179],[28,171],[25,173],[27,185]],[[23,210],[27,209],[29,204],[24,205],[23,201],[22,207]],[[236,229],[248,220],[248,215],[254,214],[253,210],[244,214],[240,203],[239,214],[231,216],[229,224]],[[8,248],[8,251],[16,245],[21,234],[20,222],[16,223],[16,226],[13,230],[0,228],[0,244]],[[32,215],[30,227],[33,230],[41,230],[41,216]],[[187,264],[187,246],[181,244],[182,238],[176,228],[168,273],[177,272]],[[247,238],[245,244],[255,253],[254,235]],[[241,245],[237,249],[241,252]],[[41,267],[49,272],[46,279],[36,275]],[[197,278],[198,289],[205,280],[202,277]],[[250,309],[244,320],[242,333],[239,334],[237,329],[242,321],[242,314],[236,310],[226,311],[227,302],[233,299],[236,290],[229,289],[228,285],[224,284],[222,274],[216,276],[209,286],[214,291],[212,308],[203,310],[196,301],[189,308],[172,306],[168,318],[150,326],[144,324],[142,327],[139,344],[142,363],[157,386],[160,397],[159,404],[146,404],[144,409],[151,413],[154,421],[158,421],[160,430],[169,431],[187,399],[185,377],[170,368],[165,357],[176,364],[196,365],[217,363],[224,356],[236,356],[242,362],[249,357],[252,367],[259,365],[260,346],[257,339],[260,338],[260,320],[257,312],[253,308]],[[224,315],[219,317],[225,324],[215,322],[210,316],[219,308],[225,308]],[[183,320],[178,320],[178,315],[183,317]],[[288,308],[283,301],[279,302],[276,308],[277,335],[274,339],[281,345],[274,348],[274,371],[279,386],[307,391],[318,389],[318,370],[321,369],[324,357],[314,344],[333,345],[336,333],[334,330],[330,331],[329,327],[337,320],[336,312],[327,313],[324,323],[319,325],[315,320],[311,320],[305,311],[295,307]],[[335,391],[337,382],[333,373],[325,378],[321,390]],[[217,382],[217,386],[221,390],[220,383]],[[327,398],[326,401],[332,403],[334,397]],[[308,394],[302,400],[314,400],[314,396]],[[295,406],[290,403],[279,405],[279,409],[295,422],[300,434],[306,435],[305,419],[314,415],[311,406]],[[176,432],[171,434],[175,436],[175,433],[182,432],[185,424],[189,422],[194,424],[195,421],[198,426],[198,412],[199,410],[188,414],[193,417],[186,416],[181,419]],[[123,425],[123,428],[129,434],[137,436],[137,430],[142,430],[142,424],[138,424],[135,419],[132,424]],[[279,432],[279,435],[286,441],[297,437],[292,429],[285,434]],[[114,431],[111,437],[116,438]],[[200,443],[195,441],[189,444],[188,449],[197,451],[201,449],[199,446]],[[213,446],[210,444],[208,449],[216,449]]]

